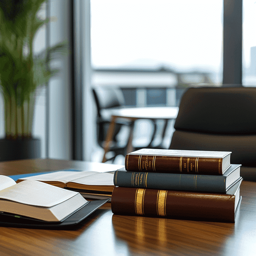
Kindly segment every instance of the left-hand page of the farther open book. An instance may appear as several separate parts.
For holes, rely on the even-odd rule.
[[[35,176],[28,176],[22,179],[39,180],[39,181],[61,181],[61,182],[67,183],[74,179],[79,179],[81,177],[93,175],[95,173],[98,173],[98,172],[57,171],[53,173],[45,173],[45,174],[39,174]]]

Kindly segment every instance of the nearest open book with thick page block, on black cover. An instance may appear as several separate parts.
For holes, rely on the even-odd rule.
[[[88,203],[78,192],[36,180],[16,183],[0,175],[0,214],[61,222]]]

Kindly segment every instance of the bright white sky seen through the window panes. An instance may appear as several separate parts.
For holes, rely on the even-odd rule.
[[[243,65],[256,46],[256,3],[243,0]],[[92,0],[94,67],[222,70],[223,0]]]

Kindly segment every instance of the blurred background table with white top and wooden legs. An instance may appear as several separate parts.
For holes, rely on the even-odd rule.
[[[134,121],[138,119],[150,119],[155,122],[157,119],[165,120],[165,126],[163,129],[162,137],[164,136],[164,132],[167,126],[167,120],[176,119],[178,115],[179,108],[178,107],[139,107],[139,108],[123,108],[123,109],[113,109],[111,111],[106,110],[102,113],[103,116],[111,115],[111,122],[108,127],[106,143],[104,147],[104,156],[102,162],[106,161],[106,153],[110,149],[111,141],[113,139],[113,133],[115,130],[116,120],[118,118],[127,119],[131,121],[130,125],[130,134],[127,146],[127,153],[133,151],[132,147],[132,135],[134,128]],[[156,130],[156,128],[155,128]],[[152,136],[152,140],[154,139],[154,135]],[[152,142],[152,141],[151,141]]]

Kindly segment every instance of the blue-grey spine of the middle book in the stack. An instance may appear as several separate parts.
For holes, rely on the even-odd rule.
[[[226,176],[115,171],[114,185],[131,188],[226,192]]]

